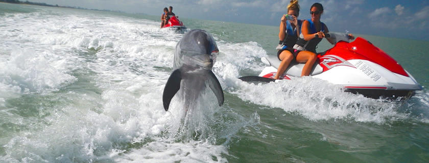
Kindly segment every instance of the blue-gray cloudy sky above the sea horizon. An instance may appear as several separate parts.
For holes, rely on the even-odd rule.
[[[51,5],[161,15],[164,7],[183,18],[278,26],[290,0],[29,0]],[[427,0],[300,0],[298,19],[310,18],[312,4],[323,5],[329,31],[429,41]],[[184,22],[185,23],[185,22]],[[186,24],[186,23],[185,23]]]

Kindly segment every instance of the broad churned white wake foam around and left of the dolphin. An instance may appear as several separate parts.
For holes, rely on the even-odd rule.
[[[178,125],[183,121],[182,101],[173,99],[172,110],[163,110],[161,92],[182,34],[160,30],[158,22],[150,20],[83,13],[47,10],[1,20],[2,108],[6,99],[22,93],[52,93],[77,82],[81,86],[81,80],[88,90],[59,92],[61,102],[40,108],[47,116],[36,121],[10,114],[14,109],[4,110],[1,116],[15,116],[8,117],[9,122],[30,129],[1,142],[6,155],[0,160],[226,162],[224,143],[249,125],[245,119],[219,107],[217,100],[187,113],[186,127]],[[264,53],[254,42],[218,45],[226,55],[216,64],[218,75],[236,77],[236,71],[222,65],[239,71],[246,68],[234,64],[250,65],[245,63]],[[209,93],[203,98],[216,98]],[[136,149],[134,144],[139,144]]]

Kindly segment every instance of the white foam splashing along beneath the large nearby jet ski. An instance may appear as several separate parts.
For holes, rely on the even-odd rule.
[[[392,117],[408,117],[407,114],[397,112],[398,102],[347,93],[339,86],[312,77],[258,85],[239,80],[236,87],[233,93],[244,100],[282,108],[310,120],[349,119],[382,123]]]

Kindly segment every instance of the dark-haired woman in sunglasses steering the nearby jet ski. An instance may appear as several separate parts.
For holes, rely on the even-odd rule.
[[[301,26],[301,34],[298,41],[294,45],[295,53],[297,53],[296,61],[305,63],[302,69],[301,76],[308,76],[316,62],[316,46],[329,32],[328,27],[320,21],[323,13],[322,4],[315,3],[310,8],[311,19],[304,20]],[[348,34],[350,39],[354,39],[352,34]],[[326,38],[329,43],[335,44],[331,38]]]

